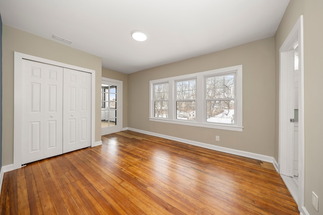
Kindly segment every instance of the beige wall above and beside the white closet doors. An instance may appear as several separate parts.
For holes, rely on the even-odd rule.
[[[3,25],[3,166],[14,154],[14,51],[95,70],[95,141],[101,140],[101,58]]]

